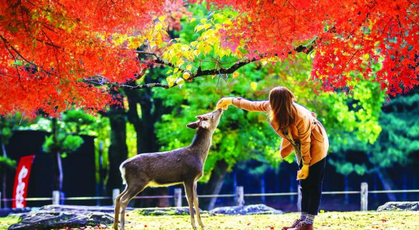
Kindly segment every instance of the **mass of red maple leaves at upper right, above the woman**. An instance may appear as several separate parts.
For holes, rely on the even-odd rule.
[[[224,1],[241,14],[225,31],[226,44],[246,43],[249,58],[288,58],[295,45],[316,39],[313,79],[323,90],[359,78],[397,95],[419,84],[417,4],[411,1]],[[381,70],[373,74],[373,69]]]

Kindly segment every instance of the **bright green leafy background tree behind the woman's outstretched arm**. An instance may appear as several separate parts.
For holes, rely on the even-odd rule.
[[[384,94],[378,88],[371,90],[373,86],[370,84],[374,83],[364,81],[359,82],[353,90],[315,95],[313,88],[316,85],[307,81],[310,56],[298,57],[292,65],[288,62],[275,66],[249,64],[238,73],[216,75],[182,87],[176,95],[167,93],[165,89],[154,88],[155,97],[163,98],[164,104],[172,108],[171,113],[162,116],[161,122],[156,124],[156,133],[162,145],[160,151],[188,145],[194,131],[185,128],[185,124],[193,121],[196,114],[214,109],[215,103],[223,95],[267,100],[269,90],[276,85],[289,87],[298,103],[316,111],[319,121],[328,130],[331,146],[339,140],[344,142],[342,135],[347,132],[351,132],[351,137],[359,142],[373,143],[381,131],[378,115]],[[202,65],[214,64],[206,62]],[[252,90],[251,85],[243,84],[243,81],[259,82],[259,90]],[[201,94],[194,93],[198,88]],[[264,113],[234,108],[225,111],[213,137],[213,149],[205,163],[202,181],[207,182],[201,186],[204,194],[218,194],[227,171],[237,163],[256,160],[261,163],[254,170],[259,174],[269,167],[280,167],[282,159],[278,148],[281,138],[272,132],[267,120]],[[294,157],[286,160],[293,162]],[[203,202],[211,208],[215,200]]]

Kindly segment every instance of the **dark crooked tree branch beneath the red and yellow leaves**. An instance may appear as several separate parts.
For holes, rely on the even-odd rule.
[[[314,44],[315,44],[316,40],[317,40],[317,37],[314,38],[312,41],[310,41],[306,45],[298,45],[298,47],[295,47],[292,51],[288,52],[288,54],[292,54],[292,53],[306,53],[306,54],[308,54],[311,51],[313,51]],[[136,53],[137,54],[154,56],[156,58],[154,60],[154,63],[163,64],[163,65],[167,65],[167,66],[171,66],[171,67],[177,67],[177,66],[173,65],[171,62],[163,60],[156,53],[146,52],[146,51],[137,51]],[[247,65],[251,62],[258,61],[262,58],[263,58],[263,56],[261,55],[260,58],[253,58],[253,59],[250,59],[250,60],[249,59],[242,59],[242,60],[237,61],[234,65],[231,65],[230,67],[227,67],[227,68],[219,68],[219,69],[214,68],[212,70],[201,70],[201,67],[199,67],[198,70],[194,73],[192,73],[191,71],[187,71],[187,70],[184,70],[182,68],[179,68],[179,71],[183,72],[183,73],[186,73],[186,72],[189,73],[191,75],[191,77],[189,79],[191,79],[191,80],[196,78],[196,77],[201,77],[201,76],[206,76],[206,75],[232,74],[235,71],[237,71],[240,67],[245,66],[245,65]],[[177,85],[177,83],[175,82],[173,84],[173,86],[176,86],[176,85]],[[171,87],[173,87],[173,86],[171,86]],[[135,90],[135,89],[152,88],[152,87],[169,88],[169,85],[168,84],[161,84],[161,83],[148,83],[148,84],[141,84],[141,85],[135,85],[135,86],[124,84],[124,85],[120,85],[120,87],[130,89],[130,90]]]

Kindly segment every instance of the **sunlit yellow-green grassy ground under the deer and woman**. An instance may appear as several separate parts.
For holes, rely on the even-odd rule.
[[[298,214],[203,216],[205,229],[281,229]],[[126,229],[191,229],[189,216],[140,216],[129,212]],[[0,218],[0,228],[6,229],[16,218]],[[419,212],[326,212],[315,220],[315,229],[416,229],[419,230]],[[105,227],[105,226],[102,226]],[[101,227],[101,229],[103,229]],[[98,229],[88,227],[86,229]],[[113,229],[111,226],[105,229]]]

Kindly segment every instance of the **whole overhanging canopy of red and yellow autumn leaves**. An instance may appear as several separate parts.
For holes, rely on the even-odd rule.
[[[214,12],[194,17],[179,0],[2,1],[0,114],[96,111],[112,102],[109,89],[170,88],[205,75],[227,80],[250,62],[274,64],[297,52],[313,59],[307,81],[324,91],[351,90],[367,79],[397,95],[419,82],[412,1],[207,4]],[[196,40],[169,35],[178,18],[196,24]],[[146,70],[158,65],[172,67],[167,81],[144,82]]]

